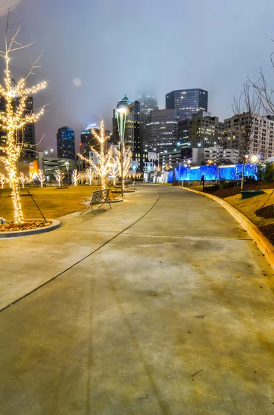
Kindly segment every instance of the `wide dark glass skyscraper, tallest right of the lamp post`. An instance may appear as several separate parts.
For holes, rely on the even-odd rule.
[[[208,91],[177,89],[166,94],[166,108],[175,109],[180,120],[190,119],[194,113],[208,110]]]

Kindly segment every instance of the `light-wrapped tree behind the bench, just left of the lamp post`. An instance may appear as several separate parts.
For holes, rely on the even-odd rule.
[[[90,149],[96,154],[98,163],[95,163],[91,158],[86,158],[81,154],[78,154],[78,156],[81,160],[90,164],[95,174],[101,178],[101,187],[106,189],[106,176],[108,176],[111,168],[110,160],[112,158],[112,151],[111,149],[107,149],[109,137],[106,136],[103,120],[101,120],[100,124],[100,133],[98,134],[95,129],[92,129],[92,134],[99,144],[99,151],[94,147],[90,147]]]

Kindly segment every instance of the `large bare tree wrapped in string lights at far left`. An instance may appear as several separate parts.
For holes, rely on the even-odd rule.
[[[39,66],[37,66],[37,62],[39,61],[41,55],[32,65],[32,68],[26,77],[21,78],[17,84],[14,84],[12,81],[9,64],[10,55],[16,50],[27,48],[31,44],[21,46],[21,44],[17,42],[16,39],[20,30],[20,26],[10,39],[8,32],[10,27],[13,26],[9,24],[9,15],[10,13],[8,14],[6,25],[6,48],[5,50],[0,50],[0,57],[2,57],[5,62],[4,84],[0,84],[0,96],[5,102],[5,111],[0,113],[0,128],[7,133],[6,141],[3,143],[3,145],[0,146],[0,150],[3,154],[3,156],[1,156],[1,160],[3,161],[6,168],[8,183],[12,188],[14,222],[17,225],[23,226],[23,212],[19,194],[20,176],[17,172],[17,162],[23,147],[23,139],[19,138],[18,132],[19,130],[23,129],[26,124],[37,122],[43,115],[45,107],[42,107],[37,112],[26,113],[26,100],[28,100],[30,95],[34,95],[35,93],[41,91],[41,89],[45,89],[47,82],[40,82],[39,84],[32,87],[27,86],[28,77],[30,75],[35,75],[35,68],[39,68]],[[15,98],[18,102],[17,105],[14,105]]]

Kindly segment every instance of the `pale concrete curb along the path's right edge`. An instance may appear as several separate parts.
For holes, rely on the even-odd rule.
[[[203,193],[199,192],[199,190],[188,189],[188,187],[183,187],[183,190],[187,190],[188,192],[193,192],[196,194],[200,194],[202,196],[206,196],[209,199],[213,199],[213,201],[222,205],[224,209],[226,209],[240,225],[242,228],[246,230],[248,235],[253,239],[255,243],[257,243],[257,247],[260,249],[262,254],[266,257],[269,264],[272,266],[274,270],[274,246],[268,239],[262,234],[259,228],[257,228],[254,223],[252,223],[244,214],[239,212],[236,208],[233,208],[228,202],[224,201],[224,199],[220,199],[219,197],[215,196],[214,194]]]

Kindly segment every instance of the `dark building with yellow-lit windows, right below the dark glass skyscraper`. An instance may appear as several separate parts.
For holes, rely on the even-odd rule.
[[[220,122],[218,117],[212,117],[211,113],[200,111],[193,114],[189,120],[188,143],[190,147],[222,147],[223,137],[224,122]]]

